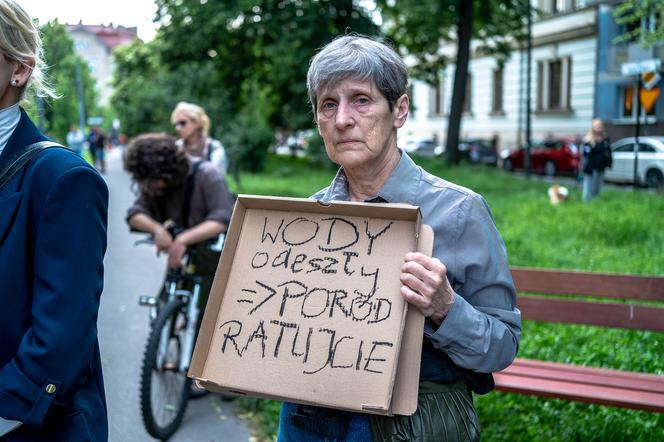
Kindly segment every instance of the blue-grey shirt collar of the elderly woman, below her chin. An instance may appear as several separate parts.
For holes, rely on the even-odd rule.
[[[372,201],[376,198],[385,200],[388,203],[407,203],[414,205],[417,196],[417,188],[422,177],[422,170],[413,162],[413,160],[401,151],[401,158],[397,167],[394,168],[390,176],[380,188],[378,193],[366,201]],[[348,179],[340,168],[334,177],[332,184],[327,192],[329,200],[350,200],[348,193]],[[375,201],[374,201],[375,202]]]

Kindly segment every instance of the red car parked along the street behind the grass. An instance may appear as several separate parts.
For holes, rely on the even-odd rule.
[[[525,167],[526,150],[522,147],[513,152],[503,152],[503,169],[515,170]],[[559,173],[578,174],[580,152],[573,139],[552,139],[533,142],[530,148],[530,164],[533,172],[554,176]]]

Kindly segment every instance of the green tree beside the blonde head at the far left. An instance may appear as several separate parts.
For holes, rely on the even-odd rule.
[[[48,77],[55,85],[60,98],[43,99],[44,131],[61,142],[65,141],[71,124],[79,123],[78,93],[76,87],[77,70],[82,82],[84,104],[87,115],[99,112],[98,94],[90,68],[74,52],[74,44],[64,25],[50,21],[40,26],[44,58],[48,66]],[[28,97],[26,108],[34,121],[38,121],[38,108],[35,97]]]

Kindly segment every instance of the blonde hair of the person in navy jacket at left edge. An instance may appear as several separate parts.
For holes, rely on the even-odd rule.
[[[40,97],[57,98],[46,81],[39,29],[28,13],[13,0],[0,0],[0,50],[5,59],[17,61],[32,70],[28,82],[21,90],[21,98],[29,88]]]

